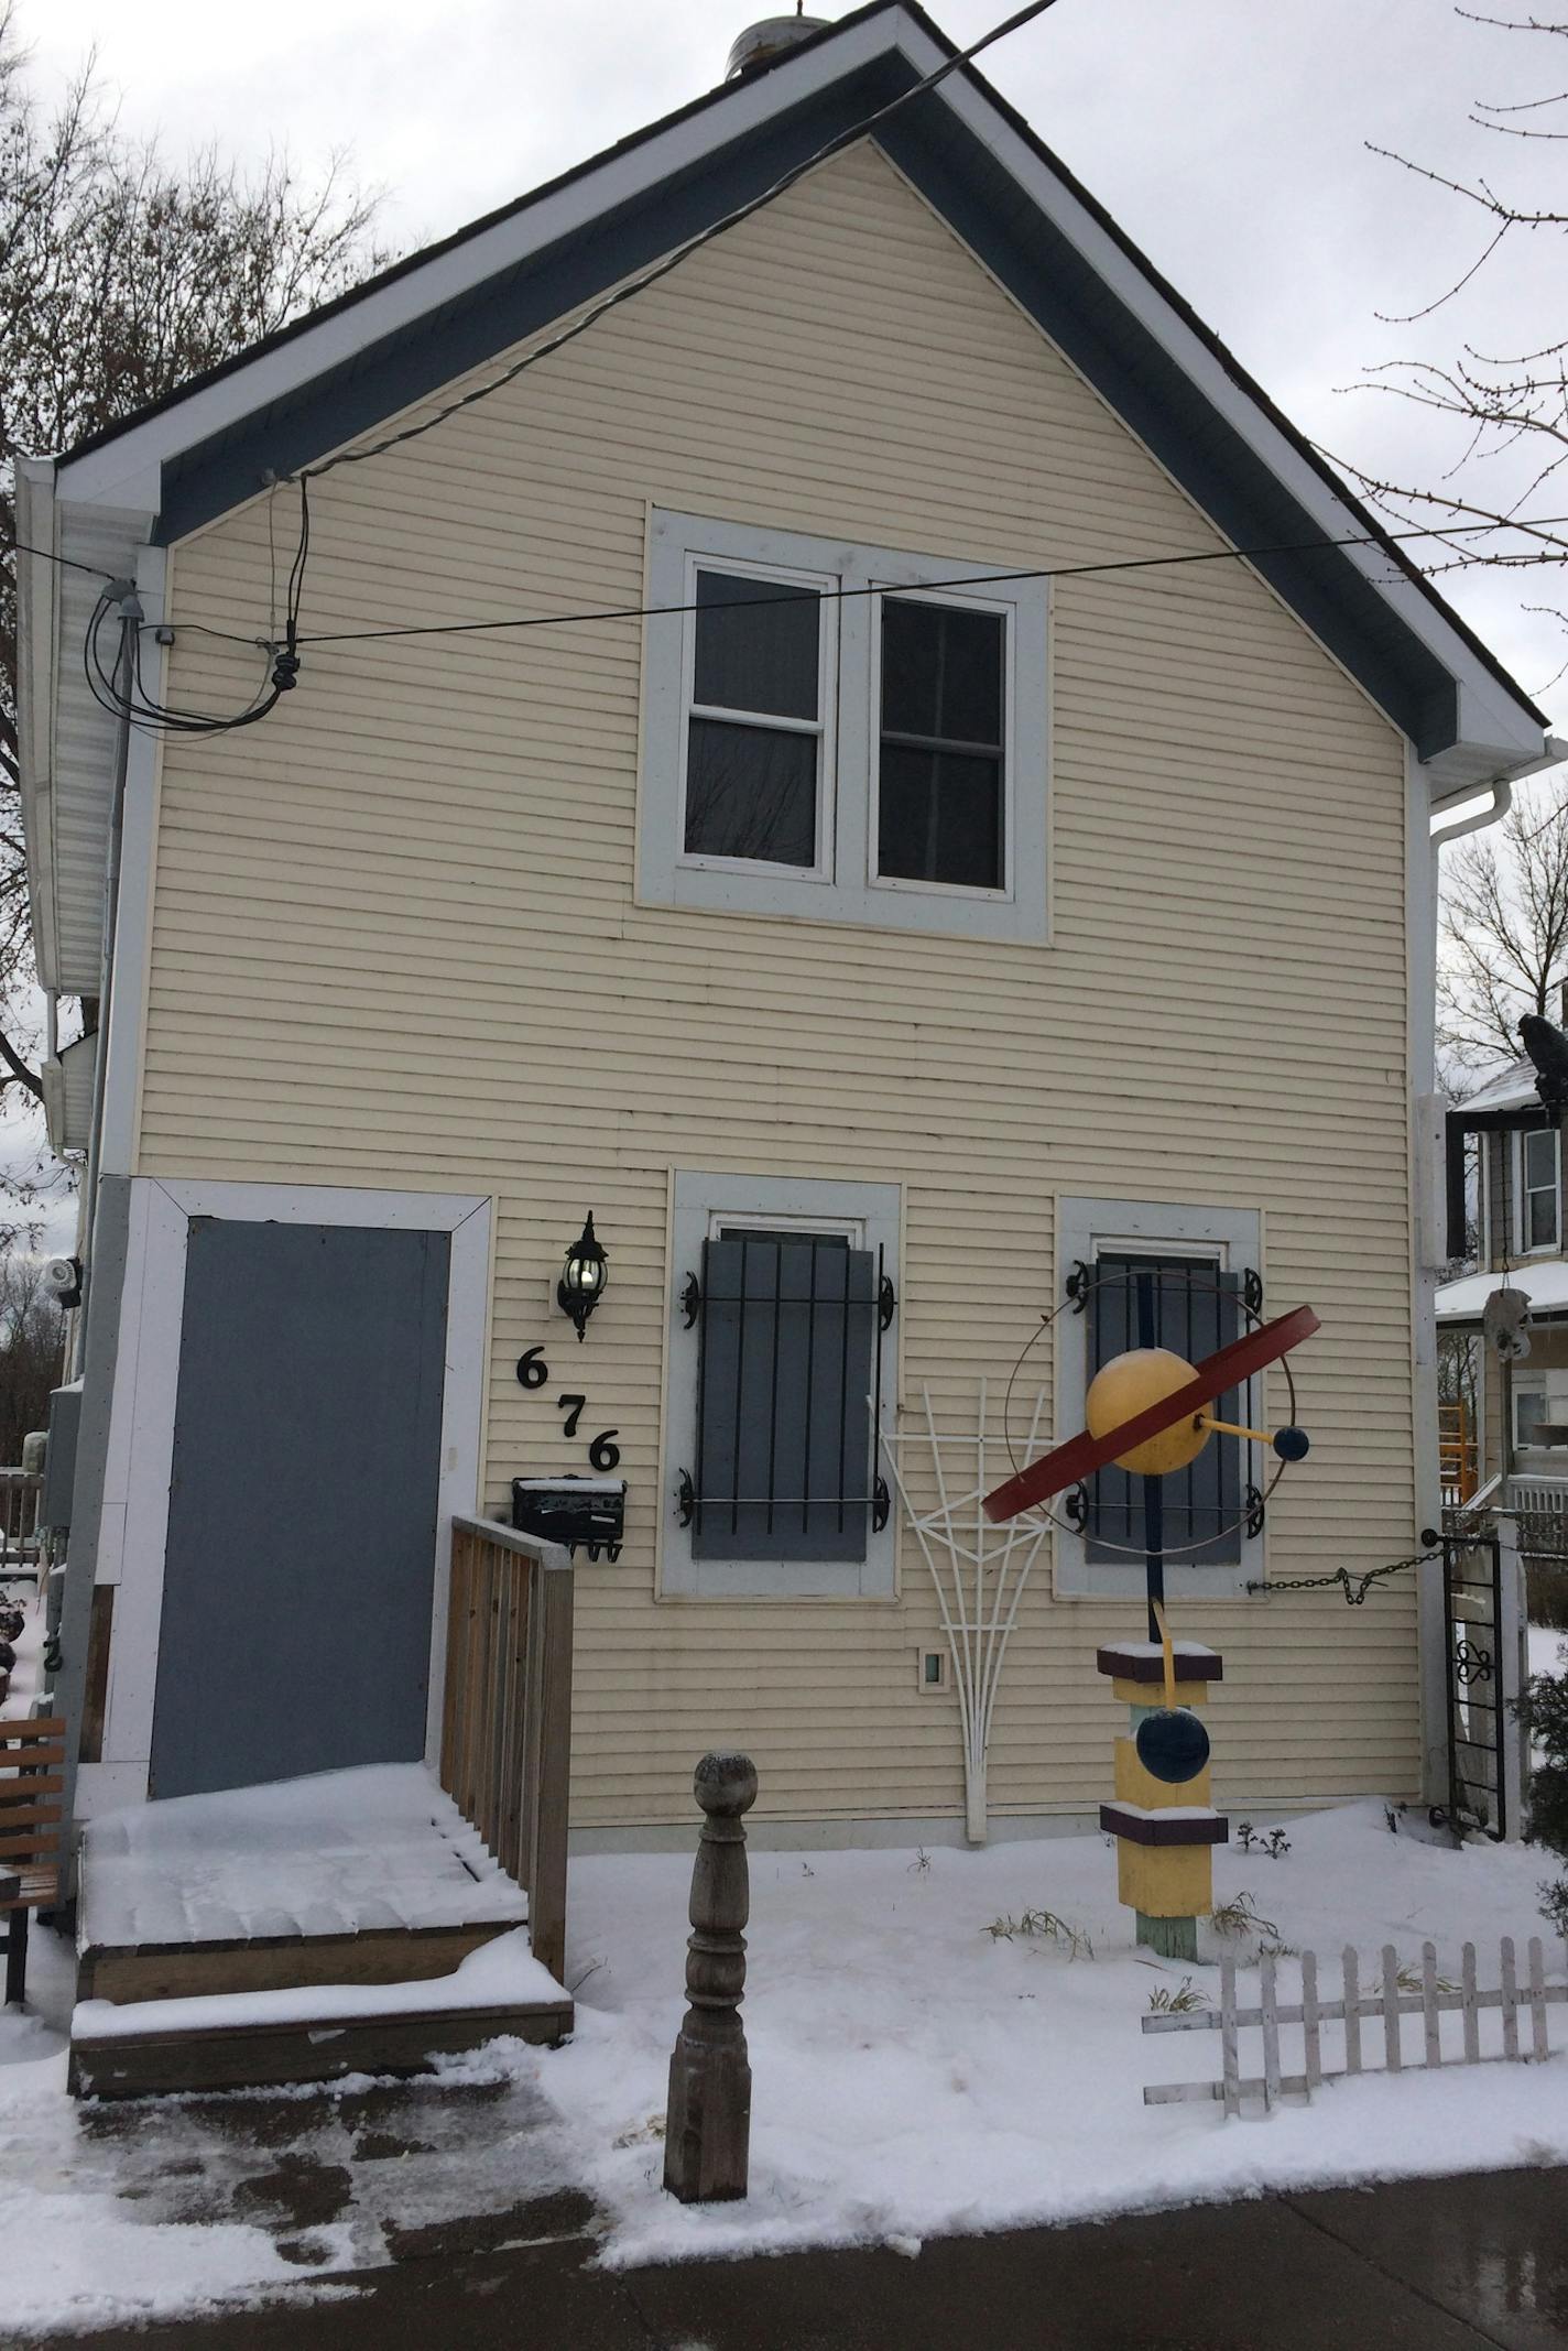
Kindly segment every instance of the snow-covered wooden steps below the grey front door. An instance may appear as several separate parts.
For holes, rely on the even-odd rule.
[[[531,1902],[421,1766],[369,1766],[87,1824],[80,2097],[418,2074],[571,1998]]]

